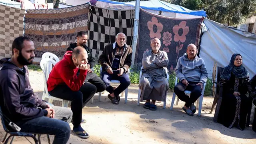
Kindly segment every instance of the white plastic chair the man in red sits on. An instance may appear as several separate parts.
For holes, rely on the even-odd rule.
[[[60,98],[56,98],[54,96],[50,96],[50,94],[48,93],[48,88],[47,88],[47,80],[49,78],[49,74],[52,70],[52,65],[55,65],[56,64],[56,61],[54,61],[53,59],[51,58],[43,58],[40,62],[40,66],[41,66],[41,69],[43,71],[43,75],[44,75],[44,92],[43,92],[43,96],[42,96],[42,100],[44,100],[45,98],[48,98],[49,99],[49,103],[52,104],[53,100],[59,100],[59,101],[62,101],[62,106],[63,107],[68,107],[68,100],[63,100],[63,99],[60,99]]]

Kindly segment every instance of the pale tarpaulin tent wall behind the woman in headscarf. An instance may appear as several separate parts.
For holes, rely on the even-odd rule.
[[[240,53],[243,66],[252,78],[256,74],[256,34],[228,28],[209,19],[205,19],[204,24],[207,31],[202,35],[199,56],[204,59],[208,76],[212,77],[214,61],[217,66],[225,67],[232,54]]]

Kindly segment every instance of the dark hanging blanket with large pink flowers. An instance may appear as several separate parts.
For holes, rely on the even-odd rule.
[[[144,51],[151,50],[150,40],[159,38],[167,52],[168,70],[176,67],[178,58],[186,53],[188,44],[198,46],[203,18],[175,19],[159,16],[140,9],[140,25],[135,62],[141,63]]]

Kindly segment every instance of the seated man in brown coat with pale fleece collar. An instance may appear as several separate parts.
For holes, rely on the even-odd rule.
[[[132,48],[127,46],[125,34],[118,33],[116,42],[105,46],[99,61],[102,66],[101,79],[110,93],[108,98],[113,104],[119,104],[119,94],[131,84],[128,69],[132,64]],[[114,89],[110,86],[111,80],[119,80],[120,85]]]

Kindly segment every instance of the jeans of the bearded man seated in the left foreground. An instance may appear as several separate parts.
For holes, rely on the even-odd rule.
[[[52,106],[55,110],[54,118],[41,116],[18,124],[20,132],[29,132],[35,134],[54,135],[52,144],[66,144],[70,137],[69,123],[72,119],[72,111],[69,108]]]

